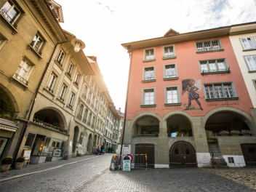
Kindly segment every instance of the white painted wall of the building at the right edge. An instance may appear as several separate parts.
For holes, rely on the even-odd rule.
[[[229,39],[231,40],[233,51],[235,52],[236,60],[239,63],[239,67],[244,77],[244,81],[247,86],[249,96],[251,97],[253,107],[256,108],[256,89],[254,84],[252,83],[252,79],[256,79],[256,73],[248,73],[247,64],[244,61],[244,56],[256,55],[256,50],[243,52],[243,47],[241,46],[241,42],[240,42],[240,38],[252,37],[253,39],[254,36],[256,36],[256,33],[245,33],[245,34],[240,34],[235,36],[229,36]],[[255,39],[253,39],[253,41],[256,47]],[[232,68],[231,68],[231,71],[232,71]]]

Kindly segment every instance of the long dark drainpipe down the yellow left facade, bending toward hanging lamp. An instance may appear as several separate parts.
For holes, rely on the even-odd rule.
[[[64,43],[67,43],[67,42],[69,42],[69,41],[63,41],[63,42],[60,42],[60,43],[55,44],[55,49],[57,48],[57,45],[58,45],[58,44],[64,44]],[[44,76],[45,76],[45,73],[47,72],[47,69],[48,69],[48,67],[49,67],[49,63],[51,62],[52,57],[53,57],[53,54],[55,53],[55,49],[53,49],[52,55],[51,55],[51,57],[49,58],[49,62],[48,62],[47,65],[45,66],[44,72],[43,72],[42,75],[41,75],[41,79],[40,79],[40,81],[39,81],[39,85],[36,87],[35,97],[34,97],[34,99],[33,99],[32,105],[31,105],[31,110],[30,110],[29,113],[28,113],[28,121],[25,123],[25,126],[23,126],[23,130],[21,131],[18,144],[17,144],[17,146],[16,146],[16,148],[15,148],[15,153],[13,154],[14,163],[12,164],[12,166],[14,166],[15,161],[16,161],[16,158],[17,158],[17,153],[20,151],[20,145],[21,145],[21,143],[23,142],[23,137],[24,137],[25,132],[26,132],[26,130],[27,130],[27,128],[28,128],[28,124],[29,124],[29,122],[30,122],[29,119],[31,118],[31,113],[32,113],[32,111],[33,111],[33,106],[35,105],[36,97],[37,97],[37,95],[38,95],[39,88],[40,88],[40,86],[41,86],[41,82],[43,81]]]

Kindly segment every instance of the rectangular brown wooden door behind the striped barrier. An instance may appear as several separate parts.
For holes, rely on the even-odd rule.
[[[155,146],[154,144],[140,143],[135,145],[135,154],[147,154],[148,156],[148,168],[155,167]],[[145,156],[135,156],[136,164],[145,165]]]

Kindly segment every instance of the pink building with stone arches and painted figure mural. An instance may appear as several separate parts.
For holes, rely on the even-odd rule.
[[[236,60],[232,28],[170,29],[122,44],[131,60],[124,145],[147,153],[150,167],[255,164],[255,101]],[[224,130],[251,134],[220,136]]]

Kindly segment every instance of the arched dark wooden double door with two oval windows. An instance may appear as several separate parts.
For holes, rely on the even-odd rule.
[[[170,167],[197,167],[196,151],[191,143],[177,141],[169,149]]]

